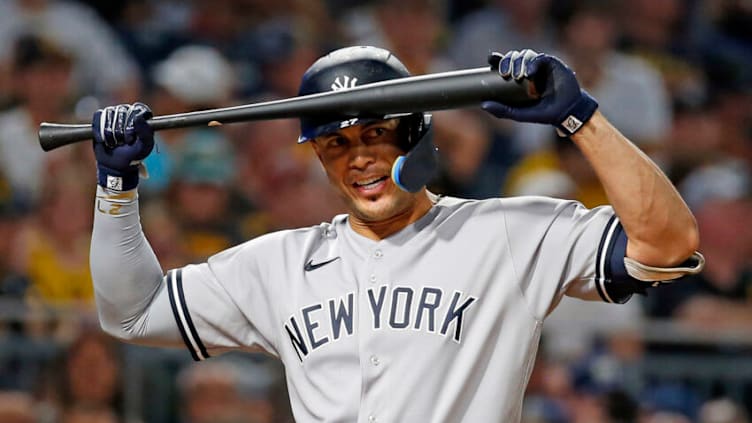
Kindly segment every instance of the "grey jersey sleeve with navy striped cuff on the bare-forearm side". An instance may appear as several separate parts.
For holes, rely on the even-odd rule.
[[[624,268],[627,238],[610,206],[587,209],[544,197],[507,199],[509,251],[522,293],[543,319],[563,295],[624,303],[634,279]],[[625,283],[621,283],[624,281]]]

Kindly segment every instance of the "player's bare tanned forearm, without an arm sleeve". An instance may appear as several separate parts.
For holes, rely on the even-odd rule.
[[[596,112],[572,140],[591,163],[629,236],[627,255],[673,266],[699,244],[694,216],[658,166]]]

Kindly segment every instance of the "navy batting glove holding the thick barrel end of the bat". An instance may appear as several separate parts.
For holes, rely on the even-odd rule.
[[[532,81],[540,100],[515,107],[486,101],[483,110],[498,118],[554,125],[561,136],[577,132],[598,109],[598,102],[580,88],[574,71],[555,56],[533,50],[492,53],[488,62],[502,78]]]

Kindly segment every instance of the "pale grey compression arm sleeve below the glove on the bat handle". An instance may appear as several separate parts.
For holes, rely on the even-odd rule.
[[[105,332],[142,345],[184,345],[162,269],[141,230],[135,190],[97,187],[90,267]]]

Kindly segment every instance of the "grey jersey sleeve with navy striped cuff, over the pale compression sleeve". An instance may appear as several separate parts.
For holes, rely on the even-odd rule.
[[[249,243],[165,276],[172,313],[194,360],[235,349],[277,355],[272,301]]]

